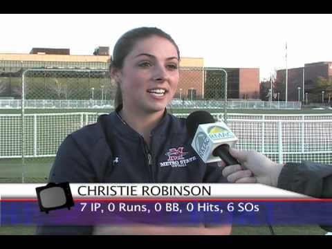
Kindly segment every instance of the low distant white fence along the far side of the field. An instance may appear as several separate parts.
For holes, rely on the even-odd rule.
[[[223,109],[223,100],[172,100],[174,109]],[[25,100],[26,109],[113,108],[113,100]],[[0,109],[20,109],[21,100],[0,100]],[[228,109],[301,109],[301,102],[228,100]]]

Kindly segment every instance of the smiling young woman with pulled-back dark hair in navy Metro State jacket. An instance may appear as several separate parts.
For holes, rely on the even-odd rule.
[[[185,119],[166,111],[178,86],[180,52],[158,28],[136,28],[113,50],[111,77],[118,84],[116,111],[69,135],[59,147],[50,182],[224,183],[216,163],[195,154]],[[230,234],[205,228],[133,224],[116,228],[41,228],[40,234]]]

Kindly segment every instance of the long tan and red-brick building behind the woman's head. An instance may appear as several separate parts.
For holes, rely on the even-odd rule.
[[[106,91],[106,86],[111,85],[107,76],[110,58],[109,48],[102,46],[95,48],[91,55],[71,55],[68,48],[33,48],[29,54],[0,54],[0,97],[20,98],[21,75],[28,68],[40,68],[41,72],[44,68],[90,68],[104,71],[89,75],[67,73],[66,76],[40,73],[33,76],[33,82],[34,87],[39,87],[39,92],[44,93],[31,94],[33,95],[31,98],[60,98],[60,95],[55,96],[46,91],[50,84],[55,84],[57,77],[60,77],[57,79],[58,82],[68,86],[68,92],[75,90],[75,94],[66,98],[79,100],[90,98],[91,89],[95,89],[95,96],[102,95],[102,89]],[[224,75],[219,69],[204,68],[203,58],[181,57],[180,81],[175,98],[193,100],[223,98]],[[228,98],[258,98],[258,68],[225,68],[225,71],[228,73]],[[113,98],[111,92],[109,98]]]

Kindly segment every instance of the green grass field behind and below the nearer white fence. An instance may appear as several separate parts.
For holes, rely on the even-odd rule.
[[[170,109],[171,113],[190,113],[197,109]],[[205,111],[210,111],[211,113],[222,113],[223,109],[210,109]],[[26,110],[26,113],[71,113],[71,112],[91,112],[91,113],[109,113],[111,109],[29,109]],[[0,109],[0,114],[19,114],[21,110],[5,110]],[[229,109],[228,113],[257,113],[257,114],[332,114],[332,110],[313,110],[313,109],[303,109],[303,110],[238,110],[238,109]],[[76,122],[76,121],[75,121]],[[76,123],[73,122],[72,127],[69,126],[69,129],[75,130]],[[50,127],[50,124],[45,124],[44,130],[39,131],[41,133],[47,133]],[[57,126],[58,124],[51,124]],[[1,124],[0,124],[1,127]],[[52,127],[53,129],[54,127]],[[41,130],[41,129],[39,129]],[[1,133],[2,132],[2,133]],[[61,131],[62,132],[62,131]],[[68,133],[68,131],[63,131],[64,133]],[[39,133],[37,134],[39,135]],[[4,131],[4,129],[0,130],[0,138],[8,138],[8,133]],[[10,134],[10,139],[15,137],[15,134]],[[19,138],[17,138],[19,139]],[[28,138],[31,139],[31,138]],[[44,147],[47,149],[54,150],[51,147],[52,142],[57,140],[56,137],[51,136],[46,140],[42,141],[44,143]],[[0,140],[1,145],[1,140]],[[1,148],[0,148],[1,149]],[[32,149],[32,148],[28,148]],[[0,159],[0,183],[21,183],[22,170],[24,169],[24,176],[26,183],[46,183],[50,166],[53,163],[54,158],[26,158],[26,165],[22,167],[21,158],[15,159]],[[275,234],[296,234],[296,235],[310,235],[310,234],[325,234],[326,232],[322,230],[318,226],[302,226],[302,227],[282,227],[276,226],[274,227]],[[35,227],[26,226],[26,227],[10,227],[3,226],[0,227],[0,234],[35,234]],[[232,230],[232,234],[234,235],[247,235],[247,234],[270,234],[270,230],[266,226],[258,226],[258,227],[234,227]]]

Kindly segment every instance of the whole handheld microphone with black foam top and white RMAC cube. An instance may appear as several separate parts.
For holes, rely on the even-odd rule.
[[[187,117],[186,125],[192,147],[204,163],[222,159],[226,166],[239,164],[229,152],[238,139],[224,122],[215,122],[208,111],[194,111]]]

